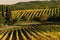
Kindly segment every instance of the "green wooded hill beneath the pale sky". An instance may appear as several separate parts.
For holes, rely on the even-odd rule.
[[[23,10],[23,9],[41,9],[41,8],[54,8],[60,7],[59,1],[31,1],[31,2],[19,2],[14,5],[9,5],[11,10]],[[4,11],[6,5],[3,5]],[[2,6],[0,5],[0,11]]]

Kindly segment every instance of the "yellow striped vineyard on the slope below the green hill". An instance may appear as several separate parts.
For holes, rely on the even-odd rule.
[[[0,12],[1,14],[1,12]],[[4,15],[6,12],[4,12]],[[47,9],[33,9],[33,10],[16,10],[11,11],[12,19],[20,20],[21,18],[25,17],[25,19],[30,20],[35,17],[41,17],[41,15],[48,15],[48,17],[52,16],[60,16],[60,9],[59,8],[47,8]]]

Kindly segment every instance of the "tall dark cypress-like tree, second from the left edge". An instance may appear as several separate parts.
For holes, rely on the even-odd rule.
[[[7,25],[12,24],[12,17],[11,17],[11,10],[9,9],[9,6],[6,7],[6,14],[5,14],[5,23]]]

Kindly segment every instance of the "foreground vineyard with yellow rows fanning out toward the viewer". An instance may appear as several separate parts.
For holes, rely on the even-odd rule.
[[[0,30],[0,40],[60,40],[60,25],[31,25]]]

